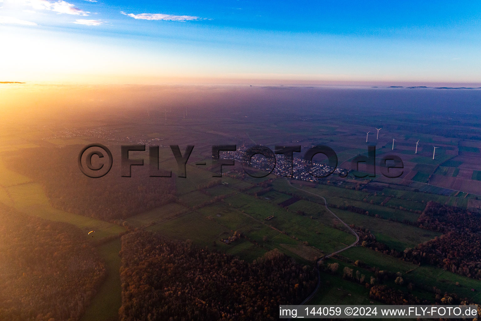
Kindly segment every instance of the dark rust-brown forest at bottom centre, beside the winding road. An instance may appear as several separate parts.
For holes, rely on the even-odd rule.
[[[277,320],[316,286],[313,268],[277,250],[248,263],[190,241],[137,231],[122,237],[122,321]]]

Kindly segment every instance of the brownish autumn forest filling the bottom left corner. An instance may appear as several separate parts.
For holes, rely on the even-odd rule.
[[[0,320],[78,320],[106,274],[82,231],[5,205],[0,221]]]

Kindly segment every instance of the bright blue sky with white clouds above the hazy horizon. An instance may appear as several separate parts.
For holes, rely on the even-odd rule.
[[[479,1],[0,5],[7,80],[481,82]]]

